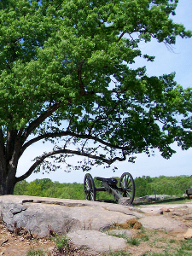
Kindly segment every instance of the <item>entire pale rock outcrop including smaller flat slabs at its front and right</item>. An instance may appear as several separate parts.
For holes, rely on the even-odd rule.
[[[114,223],[124,224],[131,218],[137,218],[143,227],[151,230],[181,233],[188,230],[182,221],[162,215],[161,207],[131,207],[27,195],[0,196],[1,219],[10,231],[23,227],[40,237],[49,236],[53,231],[67,235],[75,246],[86,247],[93,254],[124,249],[126,242],[123,238],[110,236],[113,234],[104,231]],[[175,205],[166,207],[177,209]],[[186,207],[192,214],[192,203]],[[131,236],[131,231],[128,236]]]

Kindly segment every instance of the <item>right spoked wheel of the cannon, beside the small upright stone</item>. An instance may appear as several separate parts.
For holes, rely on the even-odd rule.
[[[122,189],[122,195],[130,198],[130,204],[135,196],[135,183],[134,179],[129,172],[124,172],[119,180],[119,187]]]

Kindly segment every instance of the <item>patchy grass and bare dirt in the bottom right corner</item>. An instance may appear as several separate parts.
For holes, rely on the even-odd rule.
[[[125,229],[128,227],[132,229],[131,232],[134,236],[125,237],[125,234],[112,234],[124,238],[128,243],[128,247],[125,251],[106,253],[105,256],[134,256],[137,251],[141,249],[141,256],[191,256],[192,255],[192,240],[183,240],[177,238],[177,236],[169,236],[168,232],[160,230],[145,230],[143,226],[140,230],[133,230],[134,221],[128,220],[125,224],[113,225],[113,229],[117,230]],[[122,231],[123,232],[123,231]],[[134,248],[135,247],[135,248]],[[143,254],[142,254],[143,253]]]

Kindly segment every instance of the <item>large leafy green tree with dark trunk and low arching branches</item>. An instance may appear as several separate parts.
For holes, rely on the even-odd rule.
[[[168,159],[173,142],[191,147],[192,90],[174,73],[131,68],[137,57],[154,61],[141,41],[172,46],[191,36],[172,21],[176,7],[177,0],[0,2],[0,195],[48,168],[50,157],[110,166],[153,148]],[[17,177],[20,157],[39,141],[54,147]]]

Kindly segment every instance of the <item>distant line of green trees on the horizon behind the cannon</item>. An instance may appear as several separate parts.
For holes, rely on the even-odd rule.
[[[119,179],[119,177],[116,177]],[[96,187],[101,183],[94,178]],[[134,179],[136,197],[144,195],[177,195],[181,196],[192,187],[192,176],[177,177],[136,177]],[[22,181],[15,186],[15,195],[33,195],[65,199],[84,199],[83,183],[52,182],[49,178],[36,179],[30,183]],[[113,199],[107,192],[96,192],[96,200]]]

